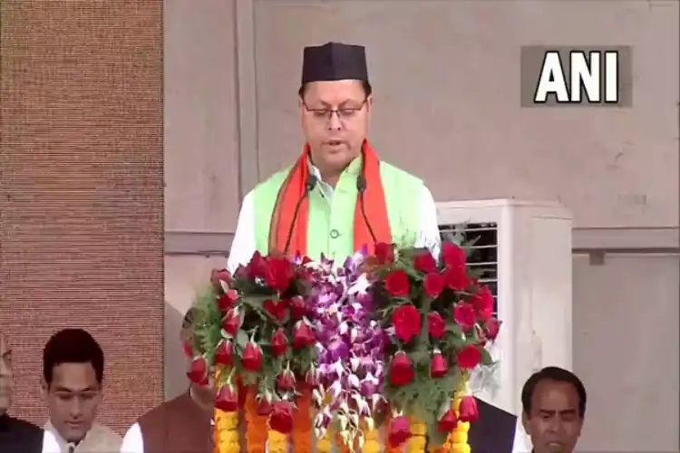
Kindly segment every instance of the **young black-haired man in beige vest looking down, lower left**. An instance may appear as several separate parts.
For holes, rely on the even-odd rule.
[[[50,419],[44,426],[61,453],[111,453],[121,436],[95,421],[102,402],[104,353],[90,333],[64,329],[43,352],[43,393]]]

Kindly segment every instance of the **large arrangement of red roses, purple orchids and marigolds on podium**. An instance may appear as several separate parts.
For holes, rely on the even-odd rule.
[[[187,349],[218,388],[216,452],[470,451],[469,375],[500,322],[461,247],[256,253],[211,283]]]

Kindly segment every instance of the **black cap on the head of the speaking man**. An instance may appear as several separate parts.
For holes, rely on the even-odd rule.
[[[308,82],[357,80],[368,82],[366,50],[363,45],[325,43],[305,47],[302,84]]]

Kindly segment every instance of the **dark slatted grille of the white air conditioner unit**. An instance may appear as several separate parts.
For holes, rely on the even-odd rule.
[[[456,224],[440,225],[442,240],[450,240],[456,244],[471,244],[468,266],[481,273],[480,283],[489,286],[495,304],[494,313],[498,313],[498,225]]]

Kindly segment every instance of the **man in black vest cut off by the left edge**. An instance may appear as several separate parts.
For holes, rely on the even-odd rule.
[[[7,414],[12,402],[12,351],[0,332],[0,451],[3,453],[59,453],[51,433]]]

